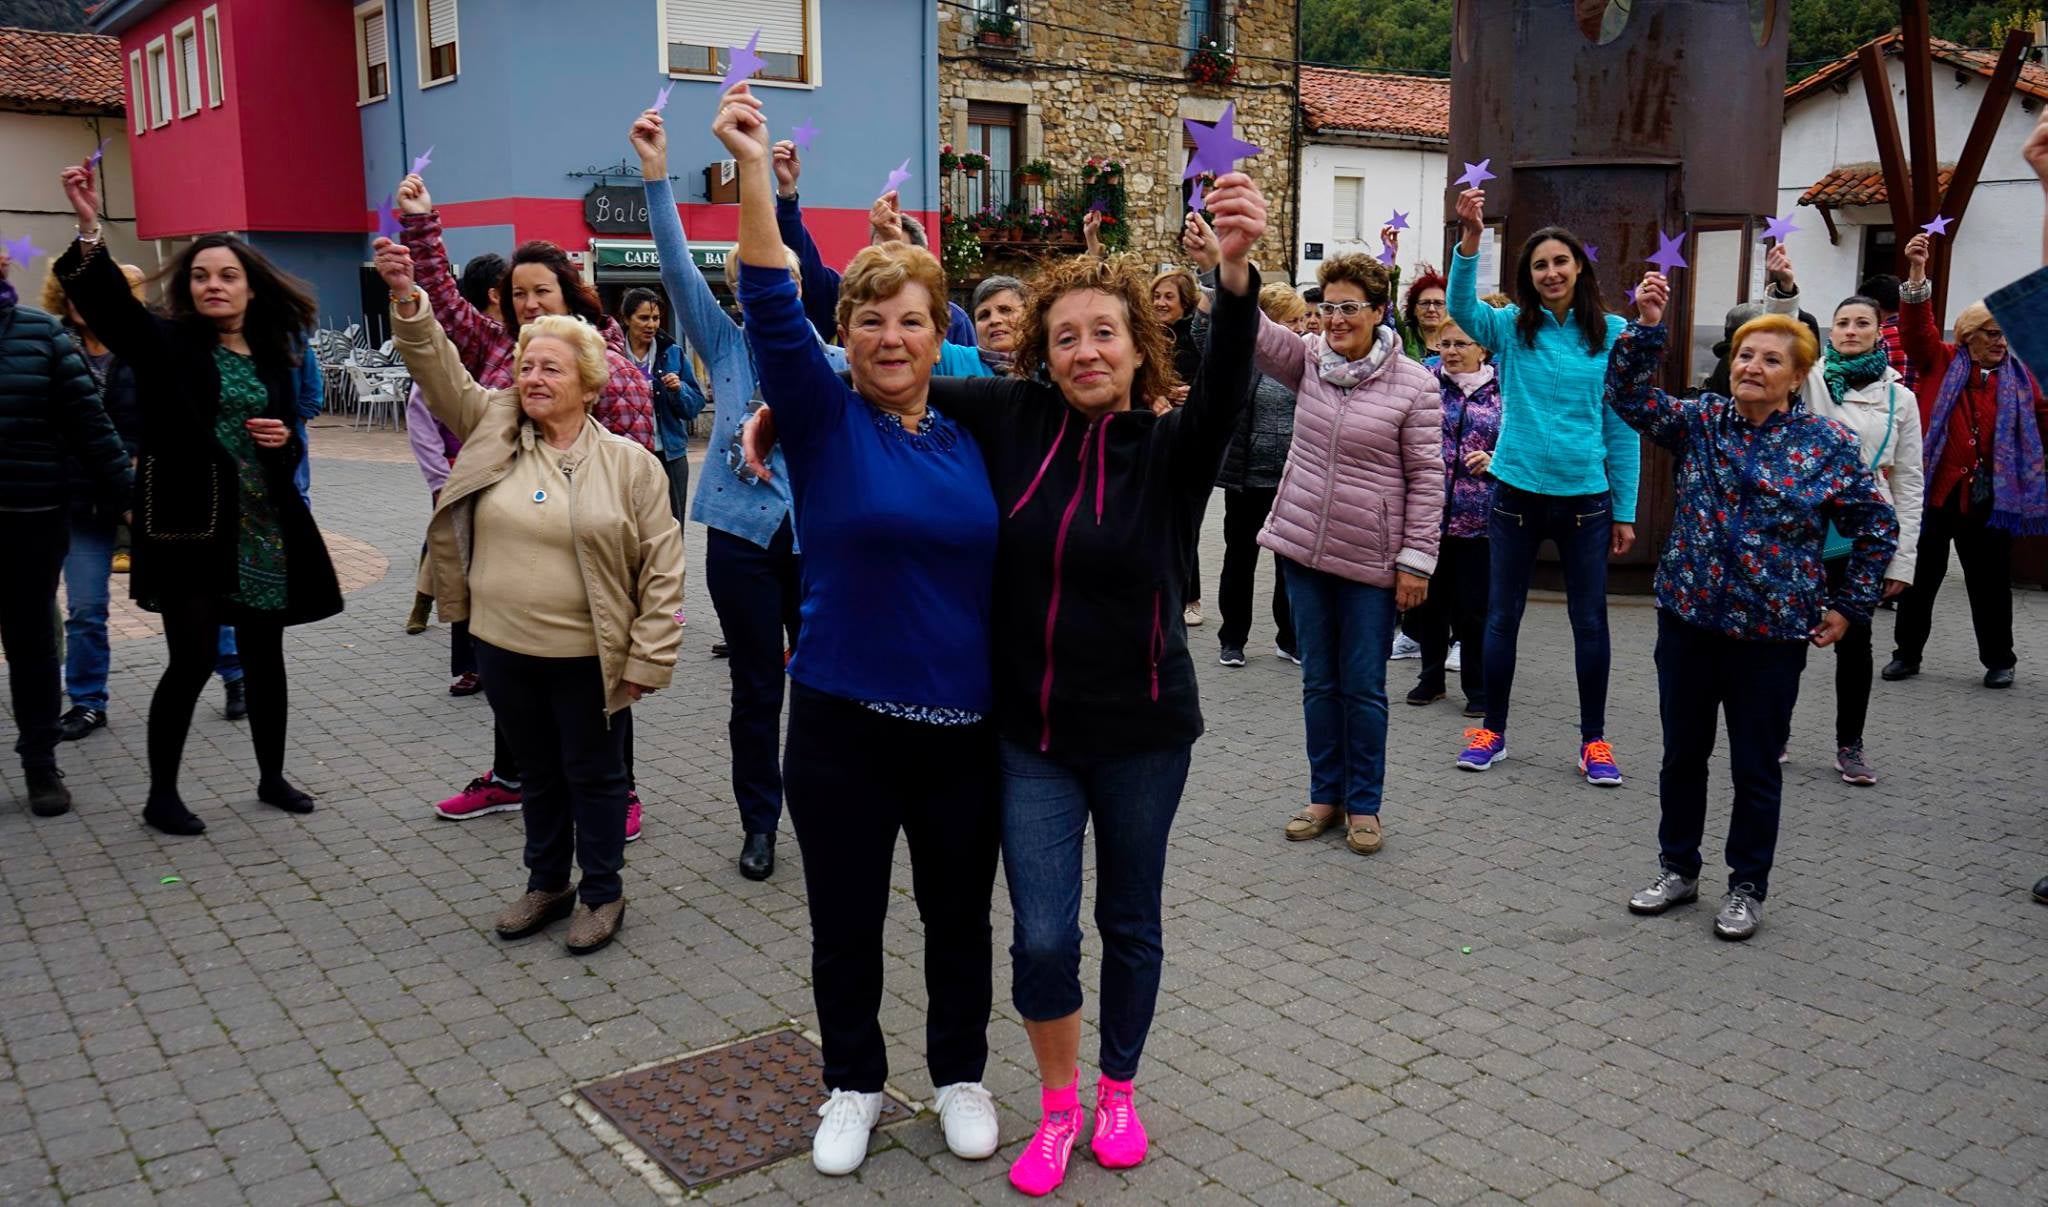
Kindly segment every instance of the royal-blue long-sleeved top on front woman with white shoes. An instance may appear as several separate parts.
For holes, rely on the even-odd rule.
[[[791,678],[852,701],[989,713],[995,496],[981,447],[938,412],[911,434],[840,381],[788,273],[741,264],[739,303],[797,492]]]

